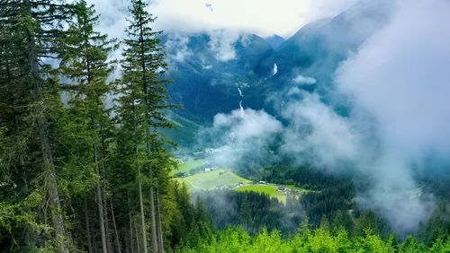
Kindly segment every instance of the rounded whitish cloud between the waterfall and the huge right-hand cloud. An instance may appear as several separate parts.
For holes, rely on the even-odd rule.
[[[303,100],[283,109],[289,125],[284,129],[282,152],[325,170],[340,170],[344,163],[355,161],[362,139],[356,126],[322,103],[317,94],[302,95]]]

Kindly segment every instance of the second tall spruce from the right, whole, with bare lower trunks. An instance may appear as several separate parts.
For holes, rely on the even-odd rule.
[[[68,96],[71,97],[68,108],[68,120],[64,128],[68,139],[66,145],[72,152],[67,162],[69,174],[75,171],[79,179],[80,172],[84,172],[84,179],[94,176],[95,202],[98,210],[98,222],[103,252],[111,252],[112,245],[109,238],[108,200],[106,199],[106,159],[107,149],[104,145],[112,120],[105,100],[112,93],[112,85],[107,78],[112,74],[113,65],[109,61],[110,54],[118,44],[115,39],[108,39],[107,35],[94,30],[99,16],[94,12],[94,5],[88,6],[84,0],[75,4],[74,20],[63,39],[60,40],[60,70],[72,83],[65,85]],[[83,133],[80,136],[80,133]],[[75,137],[75,138],[72,138]],[[73,182],[72,182],[73,184]],[[91,199],[87,191],[83,196]],[[89,235],[88,248],[93,248],[88,217],[85,208],[86,234]]]

